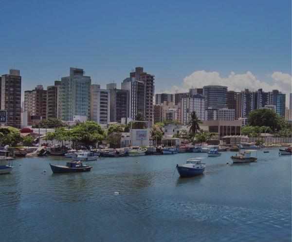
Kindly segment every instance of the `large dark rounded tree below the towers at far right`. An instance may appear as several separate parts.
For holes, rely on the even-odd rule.
[[[272,130],[281,130],[287,126],[284,118],[270,109],[256,109],[247,118],[250,126],[267,126]]]

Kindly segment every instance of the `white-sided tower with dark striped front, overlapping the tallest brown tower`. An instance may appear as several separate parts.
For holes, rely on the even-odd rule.
[[[133,120],[138,113],[145,115],[145,84],[133,77],[122,82],[122,90],[128,91],[128,117]]]

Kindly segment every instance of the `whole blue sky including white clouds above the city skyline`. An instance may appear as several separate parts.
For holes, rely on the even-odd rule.
[[[70,67],[120,87],[142,66],[156,93],[291,92],[291,0],[0,0],[0,9],[0,74],[19,69],[23,91]]]

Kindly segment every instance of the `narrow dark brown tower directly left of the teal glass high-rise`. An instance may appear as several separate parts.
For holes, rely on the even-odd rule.
[[[58,94],[61,81],[55,81],[54,86],[47,87],[47,118],[56,118],[58,115]]]

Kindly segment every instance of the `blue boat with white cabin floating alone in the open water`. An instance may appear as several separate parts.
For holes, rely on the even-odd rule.
[[[176,168],[181,177],[190,177],[190,176],[197,176],[203,174],[206,164],[201,163],[202,157],[198,158],[191,158],[186,161],[185,164],[182,166],[176,165]]]

